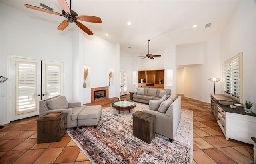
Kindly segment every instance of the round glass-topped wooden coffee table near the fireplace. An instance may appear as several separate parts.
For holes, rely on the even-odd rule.
[[[118,114],[120,114],[121,110],[129,110],[129,113],[131,113],[130,109],[136,107],[136,102],[132,100],[117,100],[112,102],[112,107],[118,109]]]

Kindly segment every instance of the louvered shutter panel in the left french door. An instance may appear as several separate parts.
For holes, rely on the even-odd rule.
[[[21,114],[36,111],[33,94],[37,90],[37,63],[16,61],[16,109]]]

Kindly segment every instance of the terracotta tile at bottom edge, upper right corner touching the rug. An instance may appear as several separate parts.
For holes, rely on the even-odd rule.
[[[72,152],[72,153],[70,153]],[[60,153],[60,156],[55,161],[56,163],[60,162],[72,162],[75,161],[78,153],[80,152],[80,148],[76,147],[66,147],[64,150]]]

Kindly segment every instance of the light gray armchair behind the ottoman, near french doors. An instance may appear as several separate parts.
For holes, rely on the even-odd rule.
[[[49,100],[50,102],[48,103]],[[50,112],[62,111],[63,113],[68,113],[67,128],[73,127],[76,129],[78,125],[78,115],[85,107],[84,105],[81,106],[81,102],[67,102],[65,96],[58,95],[39,102],[39,117]]]

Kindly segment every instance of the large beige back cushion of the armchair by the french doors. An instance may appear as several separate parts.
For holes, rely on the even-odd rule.
[[[49,109],[68,109],[68,101],[65,96],[48,100],[47,105]]]

